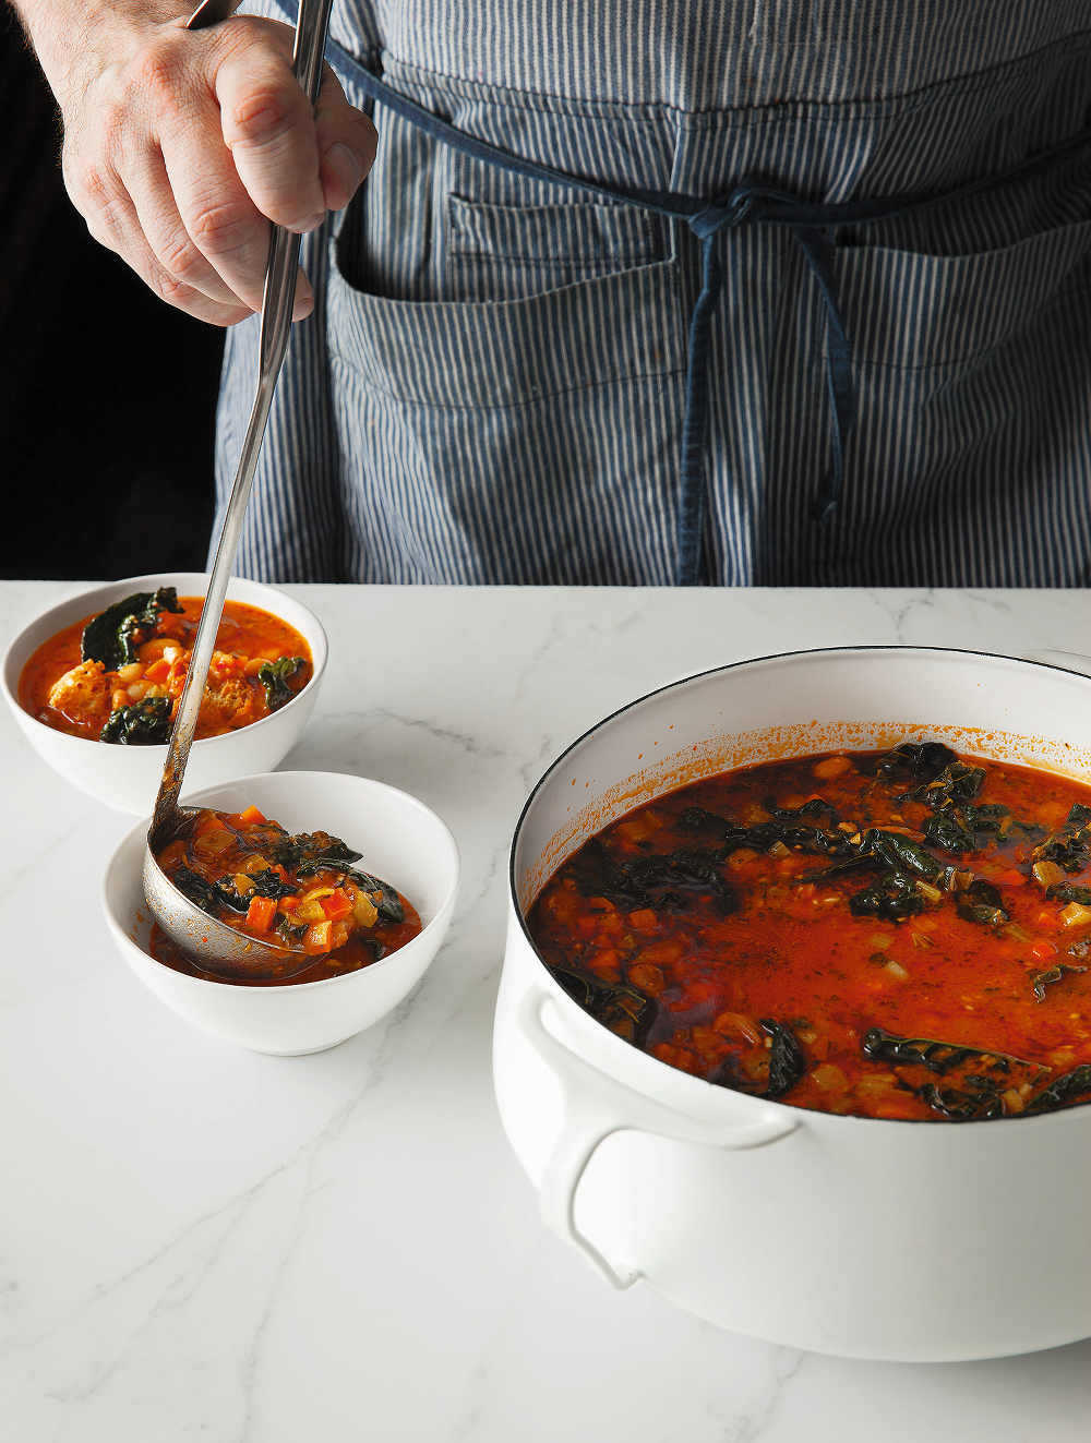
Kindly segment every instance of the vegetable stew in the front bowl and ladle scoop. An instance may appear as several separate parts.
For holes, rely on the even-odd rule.
[[[359,856],[339,837],[325,831],[293,835],[248,807],[199,811],[186,834],[160,848],[156,860],[203,912],[286,954],[313,957],[312,967],[281,978],[304,983],[368,967],[421,931],[417,912],[400,892],[354,866]],[[152,954],[203,975],[159,928]]]

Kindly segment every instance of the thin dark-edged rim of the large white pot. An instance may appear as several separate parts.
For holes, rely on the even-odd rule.
[[[586,742],[587,737],[602,730],[602,727],[608,726],[610,722],[615,722],[626,711],[634,711],[644,703],[651,701],[655,697],[664,696],[668,691],[675,691],[680,687],[690,685],[694,681],[704,681],[709,677],[720,675],[730,671],[737,671],[742,667],[758,667],[763,662],[769,664],[792,662],[792,661],[818,659],[823,657],[828,658],[859,657],[859,655],[875,655],[875,654],[889,654],[889,652],[902,652],[913,657],[973,657],[984,662],[1015,662],[1020,667],[1040,667],[1046,671],[1061,671],[1065,675],[1077,677],[1091,687],[1091,674],[1084,671],[1077,671],[1071,667],[1062,667],[1055,661],[1046,661],[1038,657],[1010,657],[1006,652],[976,651],[968,646],[913,646],[913,645],[905,645],[902,642],[888,642],[875,645],[860,644],[850,646],[807,646],[798,651],[778,651],[778,652],[769,652],[762,657],[745,657],[740,661],[729,661],[723,662],[719,667],[707,667],[704,671],[696,671],[688,677],[678,677],[674,681],[667,681],[661,687],[654,687],[651,691],[645,691],[642,696],[635,697],[634,700],[626,701],[622,706],[616,707],[608,716],[600,717],[597,722],[592,723],[592,726],[586,727],[573,742],[570,742],[569,746],[566,746],[564,750],[560,752],[558,756],[553,759],[553,762],[550,762],[550,765],[546,768],[546,771],[541,773],[538,781],[531,788],[527,801],[524,802],[522,810],[520,812],[520,818],[515,823],[515,830],[512,831],[511,837],[511,847],[508,848],[509,913],[514,915],[520,926],[520,931],[522,934],[522,941],[527,944],[527,948],[530,949],[530,954],[534,958],[537,971],[541,975],[541,978],[544,978],[550,990],[550,997],[554,1001],[554,1004],[560,1007],[561,1016],[566,1019],[566,1022],[574,1025],[577,1032],[590,1029],[587,1030],[587,1036],[589,1038],[593,1036],[596,1043],[602,1042],[608,1056],[615,1055],[619,1059],[625,1058],[629,1061],[629,1063],[634,1066],[636,1072],[647,1074],[648,1092],[651,1095],[657,1095],[658,1092],[657,1081],[662,1079],[664,1076],[670,1076],[671,1089],[677,1089],[683,1095],[690,1094],[694,1101],[697,1098],[706,1100],[713,1094],[719,1095],[722,1092],[727,1092],[727,1095],[732,1100],[732,1104],[735,1105],[745,1107],[748,1104],[755,1104],[763,1108],[775,1108],[778,1113],[789,1114],[792,1118],[795,1118],[797,1124],[801,1127],[802,1126],[840,1127],[844,1124],[853,1127],[869,1127],[869,1128],[876,1128],[880,1126],[937,1127],[937,1123],[932,1118],[857,1117],[853,1114],[843,1114],[843,1113],[820,1113],[815,1108],[797,1107],[791,1102],[781,1102],[775,1098],[753,1097],[749,1092],[736,1092],[730,1088],[722,1088],[717,1084],[709,1082],[704,1078],[693,1076],[693,1074],[690,1072],[683,1072],[681,1068],[674,1068],[671,1066],[670,1062],[664,1062],[661,1058],[652,1056],[651,1052],[644,1052],[642,1048],[635,1048],[631,1042],[625,1042],[623,1038],[619,1038],[616,1033],[610,1032],[609,1027],[603,1026],[603,1023],[600,1023],[596,1017],[592,1017],[590,1013],[584,1012],[583,1007],[580,1007],[579,1003],[574,1001],[574,999],[571,999],[564,991],[560,983],[554,978],[553,973],[550,973],[541,952],[534,945],[534,939],[530,935],[530,929],[527,926],[527,918],[524,916],[522,908],[520,905],[517,879],[515,879],[515,851],[518,848],[520,834],[538,795],[544,791],[546,785],[550,782],[554,772],[560,769],[560,766],[567,760],[567,758],[583,742]],[[590,1062],[589,1065],[597,1066],[595,1062]],[[613,1074],[606,1074],[606,1075],[613,1076]],[[625,1079],[619,1079],[619,1085],[626,1088],[634,1088],[634,1084]],[[681,1102],[671,1101],[664,1105],[677,1107],[678,1111],[683,1111]],[[1035,1123],[1039,1127],[1045,1126],[1064,1127],[1064,1126],[1078,1126],[1081,1114],[1084,1117],[1091,1117],[1091,1101],[1077,1104],[1075,1107],[1056,1108],[1052,1113],[999,1117],[999,1118],[989,1118],[987,1121],[990,1128],[1003,1128],[1004,1126],[1010,1127],[1013,1124],[1028,1126],[1030,1123]],[[958,1124],[958,1126],[970,1126],[970,1124]],[[944,1131],[945,1130],[941,1128],[941,1133]],[[991,1136],[991,1133],[989,1136]]]

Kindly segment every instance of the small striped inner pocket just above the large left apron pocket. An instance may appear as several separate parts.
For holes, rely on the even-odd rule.
[[[447,196],[444,294],[521,300],[664,260],[667,227],[628,205],[492,205]]]

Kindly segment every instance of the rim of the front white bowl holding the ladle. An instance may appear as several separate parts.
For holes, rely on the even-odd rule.
[[[140,944],[136,942],[128,935],[128,932],[124,931],[121,922],[114,915],[114,909],[110,903],[111,879],[114,877],[114,872],[120,864],[121,853],[130,846],[136,846],[137,841],[140,841],[140,856],[143,857],[143,840],[146,840],[147,828],[152,823],[152,817],[149,815],[143,817],[139,823],[136,823],[134,827],[130,827],[130,830],[124,834],[124,837],[121,837],[121,840],[117,843],[117,846],[110,854],[110,860],[107,861],[105,870],[102,873],[102,880],[100,882],[100,889],[98,889],[100,905],[102,909],[102,915],[105,916],[107,926],[110,928],[113,937],[124,944],[127,951],[136,952],[136,955],[140,957],[144,961],[144,964],[150,964],[153,970],[166,973],[172,980],[180,978],[180,986],[186,987],[192,984],[192,990],[205,990],[208,987],[216,987],[216,988],[232,987],[237,991],[260,991],[263,996],[268,993],[287,993],[289,996],[292,996],[299,993],[312,993],[315,988],[320,987],[348,983],[354,977],[362,977],[365,974],[374,973],[378,968],[387,971],[390,970],[388,968],[390,962],[397,962],[400,960],[404,960],[404,954],[410,952],[410,949],[413,949],[414,952],[420,951],[420,947],[417,947],[417,944],[421,942],[437,926],[437,924],[442,924],[446,928],[447,924],[444,921],[444,916],[453,908],[459,892],[459,873],[460,873],[459,847],[457,843],[455,841],[455,835],[450,827],[447,827],[447,824],[443,821],[439,812],[433,811],[427,802],[423,802],[420,799],[420,797],[414,797],[413,792],[407,792],[400,786],[391,786],[390,782],[381,782],[374,776],[359,776],[356,772],[315,772],[315,771],[300,769],[293,772],[253,772],[250,776],[232,776],[231,781],[228,782],[215,782],[212,786],[203,786],[199,792],[193,792],[192,797],[186,797],[186,805],[188,807],[199,805],[203,799],[208,799],[209,792],[219,792],[228,786],[247,786],[251,782],[261,782],[267,778],[280,778],[280,776],[284,778],[323,776],[323,778],[338,778],[341,781],[351,779],[354,782],[364,782],[369,788],[378,788],[384,792],[397,797],[398,801],[411,802],[413,807],[424,812],[424,815],[439,828],[439,837],[447,853],[446,863],[450,869],[450,883],[444,890],[443,899],[436,908],[431,921],[426,922],[424,926],[421,926],[420,932],[416,937],[410,938],[410,941],[406,942],[403,947],[398,947],[397,951],[390,952],[387,957],[381,957],[377,962],[371,962],[368,967],[356,967],[351,973],[343,973],[341,977],[322,977],[313,983],[284,983],[280,987],[250,987],[247,983],[231,981],[227,977],[190,977],[189,973],[179,973],[175,967],[167,967],[166,962],[160,962],[157,957],[153,957],[150,952],[146,952],[144,948],[140,947]],[[439,942],[437,942],[437,949],[439,949]]]

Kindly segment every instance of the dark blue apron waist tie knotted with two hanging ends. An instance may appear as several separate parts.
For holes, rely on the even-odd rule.
[[[293,0],[277,0],[279,7],[294,22]],[[892,219],[909,211],[924,211],[948,201],[965,199],[1013,180],[1036,175],[1064,157],[1091,144],[1091,128],[1035,153],[1016,166],[994,176],[986,176],[954,186],[938,195],[903,193],[872,201],[847,201],[836,205],[811,202],[787,190],[778,190],[756,180],[743,180],[709,202],[700,196],[670,190],[625,189],[600,185],[582,176],[569,175],[553,166],[527,160],[512,152],[492,146],[394,89],[385,81],[349,55],[336,42],[326,43],[326,59],[348,75],[371,100],[401,115],[426,134],[462,154],[512,175],[544,180],[567,189],[583,190],[619,205],[636,206],[668,219],[684,221],[701,245],[701,291],[690,316],[690,336],[685,367],[685,417],[683,421],[681,475],[678,486],[678,541],[675,582],[680,586],[700,583],[701,538],[707,511],[704,457],[709,431],[709,343],[711,317],[723,289],[723,263],[719,237],[739,225],[784,225],[799,247],[811,273],[825,313],[825,388],[831,421],[831,457],[811,506],[818,522],[828,522],[841,498],[844,455],[849,434],[856,420],[856,388],[849,335],[837,302],[833,278],[834,244],[831,232],[843,225],[867,225]]]

